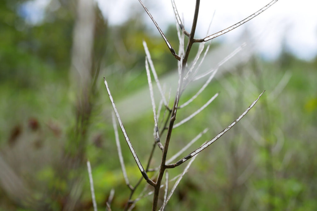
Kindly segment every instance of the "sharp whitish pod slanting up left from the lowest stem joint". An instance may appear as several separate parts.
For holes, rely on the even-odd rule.
[[[132,146],[132,144],[131,144],[131,141],[130,141],[130,139],[129,139],[127,133],[126,133],[126,129],[124,128],[123,123],[122,123],[122,121],[121,121],[121,118],[120,118],[119,112],[118,112],[118,110],[117,110],[117,107],[116,107],[116,105],[114,104],[113,97],[112,97],[112,95],[111,95],[111,92],[110,92],[108,83],[107,83],[107,81],[106,81],[106,78],[105,78],[105,77],[103,77],[103,78],[104,78],[104,80],[105,80],[105,86],[106,86],[106,89],[107,89],[107,92],[108,92],[108,95],[109,95],[109,99],[110,99],[110,101],[111,101],[111,104],[112,104],[114,113],[115,113],[116,116],[117,116],[117,120],[119,121],[120,128],[121,128],[122,133],[123,133],[123,135],[124,135],[124,137],[125,137],[125,139],[126,139],[126,143],[128,144],[128,146],[129,146],[129,148],[130,148],[130,151],[131,151],[131,153],[132,153],[132,155],[133,155],[133,157],[134,157],[134,160],[135,160],[135,162],[137,163],[137,165],[138,165],[138,167],[139,167],[139,170],[141,171],[141,174],[142,174],[142,176],[145,178],[146,182],[149,183],[150,185],[154,186],[155,183],[147,176],[146,171],[144,171],[144,168],[143,168],[143,166],[142,166],[142,164],[141,164],[141,162],[140,162],[140,160],[139,160],[139,158],[138,158],[138,156],[137,156],[137,153],[136,153],[135,150],[133,149],[133,146]]]

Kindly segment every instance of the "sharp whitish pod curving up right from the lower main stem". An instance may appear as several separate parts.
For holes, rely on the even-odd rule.
[[[265,90],[264,90],[265,91]],[[264,92],[263,91],[263,92]],[[184,158],[180,159],[179,161],[177,161],[175,164],[170,164],[170,165],[165,165],[166,168],[174,168],[182,163],[184,163],[186,160],[192,158],[193,156],[197,155],[199,152],[201,152],[202,150],[204,150],[207,146],[210,146],[213,142],[215,142],[217,139],[219,139],[224,133],[226,133],[228,130],[230,130],[238,121],[240,121],[242,119],[242,117],[244,115],[246,115],[249,110],[256,104],[256,102],[260,99],[260,97],[262,96],[263,92],[260,94],[260,96],[254,101],[252,102],[252,104],[235,120],[233,121],[228,127],[226,127],[223,131],[221,131],[220,133],[218,133],[213,139],[209,140],[206,144],[204,144],[203,146],[199,147],[198,149],[196,149],[194,152],[191,152],[189,155],[185,156]]]

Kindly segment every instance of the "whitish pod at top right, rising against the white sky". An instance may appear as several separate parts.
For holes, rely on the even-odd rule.
[[[231,31],[232,29],[235,29],[235,28],[237,28],[238,26],[241,26],[242,24],[248,22],[248,21],[251,20],[252,18],[258,16],[260,13],[262,13],[264,10],[268,9],[270,6],[272,6],[272,5],[273,5],[274,3],[276,3],[277,1],[278,1],[278,0],[273,0],[273,1],[271,1],[271,2],[268,3],[266,6],[262,7],[261,9],[259,9],[257,12],[253,13],[253,14],[250,15],[249,17],[243,19],[242,21],[240,21],[240,22],[238,22],[238,23],[236,23],[236,24],[234,24],[234,25],[232,25],[232,26],[230,26],[230,27],[228,27],[228,28],[225,28],[225,29],[223,29],[223,30],[221,30],[221,31],[219,31],[219,32],[217,32],[217,33],[215,33],[215,34],[211,34],[210,36],[207,36],[207,37],[205,37],[205,38],[203,38],[203,39],[195,39],[194,41],[195,41],[195,42],[206,42],[206,41],[211,40],[211,39],[214,39],[214,38],[216,38],[216,37],[218,37],[218,36],[220,36],[220,35],[223,35],[223,34],[229,32],[229,31]]]

